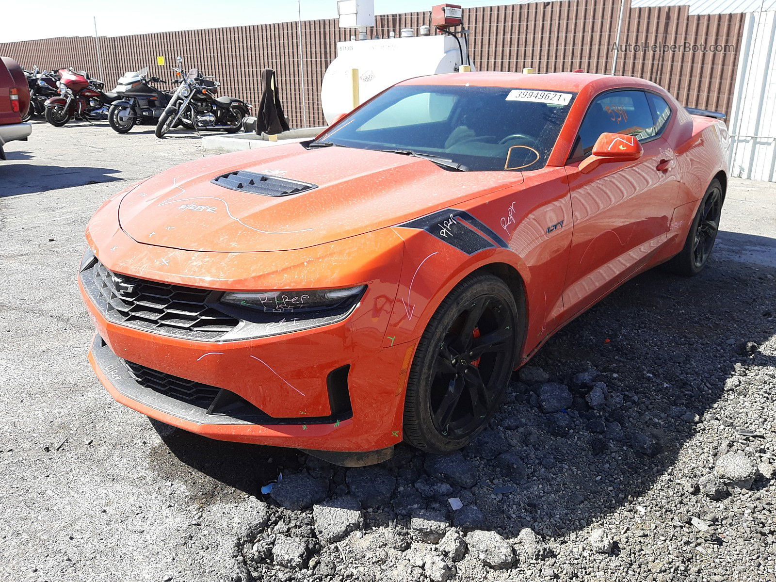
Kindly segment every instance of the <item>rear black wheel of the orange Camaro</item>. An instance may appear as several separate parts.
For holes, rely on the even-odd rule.
[[[714,178],[698,206],[698,212],[692,220],[684,247],[664,265],[667,271],[692,277],[703,270],[712,255],[723,203],[725,203],[725,191],[719,180]]]

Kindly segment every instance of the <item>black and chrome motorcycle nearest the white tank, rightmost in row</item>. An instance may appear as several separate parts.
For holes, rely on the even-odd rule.
[[[240,131],[251,106],[242,99],[217,97],[218,87],[218,81],[212,81],[192,68],[159,117],[154,130],[156,137],[165,137],[178,123],[190,124],[197,133],[199,130]]]

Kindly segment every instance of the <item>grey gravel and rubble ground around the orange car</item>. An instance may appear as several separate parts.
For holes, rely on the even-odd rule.
[[[149,421],[92,375],[88,217],[205,155],[143,129],[36,123],[0,164],[3,580],[776,580],[774,185],[732,180],[705,272],[574,320],[462,452],[344,469]]]

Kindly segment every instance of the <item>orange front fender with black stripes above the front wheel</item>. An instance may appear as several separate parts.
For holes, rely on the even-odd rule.
[[[512,192],[496,192],[393,230],[404,241],[404,265],[383,345],[416,341],[462,279],[494,264],[514,268],[523,282],[528,321],[522,356],[562,323],[573,230],[563,168],[532,172]]]

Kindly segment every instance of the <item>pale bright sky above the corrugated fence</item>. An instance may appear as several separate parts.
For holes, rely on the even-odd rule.
[[[525,1],[525,0],[524,0]],[[441,0],[374,0],[376,14],[431,10]],[[97,17],[100,36],[158,33],[165,30],[244,26],[296,20],[296,0],[133,0],[132,2],[95,2],[95,0],[37,0],[34,12],[24,2],[0,0],[5,23],[19,26],[0,27],[0,43],[33,40],[53,36],[93,36],[93,16]],[[336,0],[299,0],[303,20],[336,18]],[[464,8],[511,4],[498,0],[452,2]],[[36,15],[56,15],[39,18]],[[24,23],[30,24],[26,26]]]

